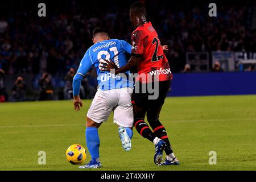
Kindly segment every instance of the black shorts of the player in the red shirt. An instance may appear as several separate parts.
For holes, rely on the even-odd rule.
[[[131,101],[141,109],[151,109],[164,104],[171,87],[171,80],[142,84],[137,81],[134,86]]]

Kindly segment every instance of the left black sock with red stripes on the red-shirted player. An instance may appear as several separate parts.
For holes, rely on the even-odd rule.
[[[155,139],[155,134],[143,119],[134,119],[134,127],[142,137],[147,138],[151,142]]]

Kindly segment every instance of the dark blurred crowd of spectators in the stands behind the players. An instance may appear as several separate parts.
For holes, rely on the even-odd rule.
[[[94,27],[106,27],[111,38],[130,42],[132,2],[46,1],[46,18],[39,18],[36,3],[14,1],[1,6],[0,95],[7,95],[1,84],[5,76],[32,75],[32,84],[27,84],[39,90],[36,100],[53,99],[55,88],[63,90],[63,98],[71,98],[72,76],[92,46]],[[191,72],[185,61],[187,51],[256,52],[256,30],[251,26],[255,1],[218,2],[218,16],[211,18],[207,1],[146,1],[148,19],[169,47],[172,72]],[[26,86],[15,86],[23,82],[22,77],[15,78],[9,92],[14,101],[26,100],[24,93],[15,95],[17,89],[25,92]],[[96,88],[92,70],[81,88],[84,97],[93,97]]]

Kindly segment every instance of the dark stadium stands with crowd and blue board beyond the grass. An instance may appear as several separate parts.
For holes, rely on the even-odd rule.
[[[1,101],[72,98],[68,73],[76,71],[92,46],[96,26],[108,28],[111,38],[130,42],[129,6],[134,1],[44,1],[47,16],[42,18],[39,2],[1,4]],[[146,1],[148,20],[169,47],[166,55],[174,73],[170,96],[255,94],[255,1],[214,1],[217,17],[208,15],[210,2]],[[220,66],[214,68],[216,61]],[[49,74],[49,82],[40,81],[43,73]],[[96,88],[92,69],[82,82],[82,98],[92,98]]]

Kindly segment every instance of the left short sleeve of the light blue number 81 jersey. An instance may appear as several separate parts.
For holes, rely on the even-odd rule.
[[[86,51],[84,57],[82,58],[79,69],[77,69],[77,74],[85,76],[93,65],[92,57],[90,57],[90,49]]]

